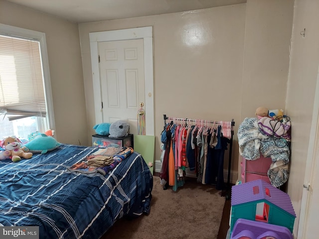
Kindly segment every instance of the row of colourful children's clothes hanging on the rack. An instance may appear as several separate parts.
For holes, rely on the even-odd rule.
[[[170,120],[166,123],[166,119]],[[160,179],[164,189],[176,191],[184,185],[185,169],[195,171],[197,182],[214,184],[217,190],[224,185],[224,155],[232,146],[234,121],[167,118],[161,132]],[[224,136],[226,135],[226,137]],[[230,150],[231,151],[231,150]],[[229,155],[229,170],[231,152]],[[228,181],[229,185],[229,172]]]

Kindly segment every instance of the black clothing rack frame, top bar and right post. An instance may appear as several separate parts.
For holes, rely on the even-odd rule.
[[[202,120],[202,119],[188,119],[188,118],[173,118],[173,117],[167,117],[166,115],[163,115],[164,119],[164,128],[167,124],[166,120],[171,119],[175,121],[184,122],[185,125],[187,125],[187,122],[194,122],[194,123],[204,123],[204,124],[210,124],[210,123],[219,123],[221,121],[216,120]],[[230,135],[230,143],[229,143],[229,156],[228,156],[228,171],[227,171],[227,186],[226,186],[226,200],[230,200],[230,171],[231,171],[231,160],[232,160],[232,148],[233,148],[233,136],[234,136],[234,129],[235,126],[234,119],[231,120],[231,135]]]

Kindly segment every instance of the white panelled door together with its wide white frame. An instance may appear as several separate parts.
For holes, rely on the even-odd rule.
[[[154,135],[152,27],[91,32],[90,47],[96,123],[127,119],[137,133],[144,103],[146,134]]]

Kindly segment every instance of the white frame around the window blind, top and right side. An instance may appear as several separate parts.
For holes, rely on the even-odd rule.
[[[36,40],[39,42],[43,71],[44,94],[47,107],[46,119],[48,120],[48,127],[51,129],[55,129],[51,79],[45,33],[0,23],[0,35]]]

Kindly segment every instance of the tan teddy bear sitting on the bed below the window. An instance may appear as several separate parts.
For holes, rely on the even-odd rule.
[[[18,162],[21,158],[29,159],[32,157],[32,153],[28,152],[29,149],[25,146],[21,147],[21,143],[17,138],[4,138],[1,141],[1,147],[5,149],[2,154],[6,158],[11,158],[12,162]]]

